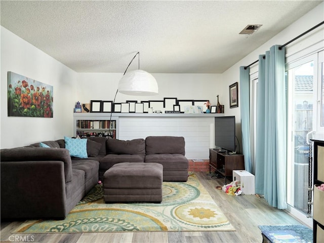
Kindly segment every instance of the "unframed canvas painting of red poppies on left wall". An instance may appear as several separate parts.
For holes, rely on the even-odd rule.
[[[8,116],[53,117],[53,86],[8,72]]]

